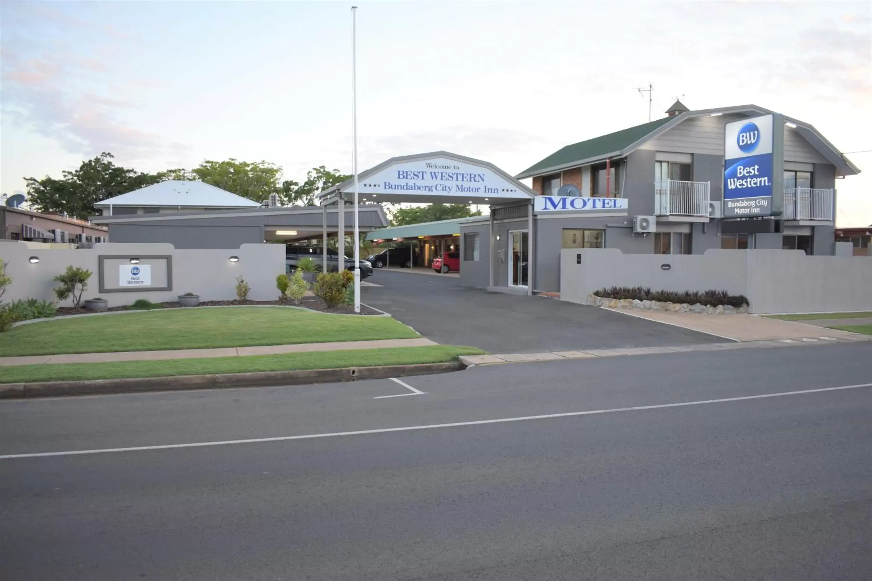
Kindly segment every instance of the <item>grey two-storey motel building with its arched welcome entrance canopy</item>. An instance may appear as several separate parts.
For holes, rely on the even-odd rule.
[[[388,159],[358,175],[358,191],[367,204],[489,206],[457,225],[460,281],[515,294],[560,291],[565,248],[837,253],[837,179],[860,170],[813,125],[757,105],[689,111],[676,101],[666,114],[567,145],[516,176],[449,152]],[[352,193],[348,180],[321,203],[348,204]],[[436,232],[429,224],[369,237]]]

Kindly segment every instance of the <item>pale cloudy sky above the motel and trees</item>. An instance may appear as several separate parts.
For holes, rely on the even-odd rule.
[[[872,150],[866,2],[358,2],[361,171],[445,149],[521,172],[653,118],[753,103]],[[265,159],[351,171],[351,3],[0,2],[0,174]],[[872,223],[872,153],[839,226]]]

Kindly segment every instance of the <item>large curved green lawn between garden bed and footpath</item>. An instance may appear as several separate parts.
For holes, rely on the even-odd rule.
[[[391,317],[284,307],[192,308],[22,325],[0,334],[0,356],[368,341],[418,337]]]

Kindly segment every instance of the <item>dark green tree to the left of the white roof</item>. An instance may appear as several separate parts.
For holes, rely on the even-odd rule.
[[[112,159],[112,153],[100,153],[94,159],[83,161],[74,172],[65,171],[62,179],[25,178],[28,202],[37,212],[66,213],[72,218],[87,220],[97,213],[94,208],[97,202],[167,179],[160,173],[142,173],[116,166]]]

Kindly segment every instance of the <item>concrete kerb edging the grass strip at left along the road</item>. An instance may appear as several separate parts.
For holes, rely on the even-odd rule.
[[[432,375],[467,368],[462,361],[416,363],[362,368],[298,369],[218,375],[172,375],[127,379],[99,379],[72,382],[0,384],[0,399],[58,397],[65,395],[110,395],[192,389],[267,388],[308,383],[355,382],[405,375]]]

